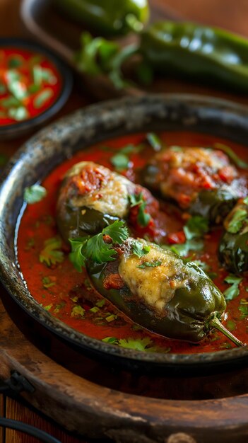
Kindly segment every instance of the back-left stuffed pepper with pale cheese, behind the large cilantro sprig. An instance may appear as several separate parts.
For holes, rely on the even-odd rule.
[[[93,235],[118,219],[134,229],[155,229],[158,201],[141,185],[105,166],[82,161],[67,171],[57,200],[57,224],[65,241]]]

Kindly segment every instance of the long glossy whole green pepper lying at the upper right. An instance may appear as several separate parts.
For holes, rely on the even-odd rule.
[[[159,22],[141,34],[140,52],[163,75],[248,91],[248,41],[218,28]]]

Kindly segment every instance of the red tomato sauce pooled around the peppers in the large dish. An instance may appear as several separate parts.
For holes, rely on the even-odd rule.
[[[216,142],[230,146],[241,159],[247,159],[247,148],[223,139],[205,134],[187,132],[166,132],[160,138],[167,145],[213,146]],[[170,340],[151,333],[126,318],[117,308],[90,286],[87,273],[77,272],[69,260],[69,248],[61,242],[56,225],[56,203],[59,185],[66,171],[79,161],[95,161],[114,169],[113,156],[120,149],[126,149],[128,165],[122,173],[138,183],[140,171],[148,159],[154,155],[153,149],[144,143],[145,134],[132,134],[112,139],[78,152],[73,158],[58,166],[42,183],[47,190],[46,197],[34,205],[27,205],[20,221],[17,238],[18,263],[34,299],[67,325],[93,338],[107,341],[122,347],[147,352],[199,353],[213,352],[234,347],[218,331],[211,333],[201,343],[187,343]],[[130,147],[131,146],[131,147]],[[135,146],[141,149],[134,149]],[[124,149],[124,151],[125,151]],[[163,208],[163,205],[162,205]],[[173,235],[182,229],[182,219],[173,209],[162,213],[163,224]],[[191,260],[206,263],[208,272],[221,291],[230,287],[225,283],[228,272],[220,267],[217,258],[218,241],[221,229],[214,228],[204,237],[202,251],[189,253]],[[45,243],[53,239],[54,264],[47,265],[49,247]],[[58,251],[59,250],[59,251]],[[51,252],[51,251],[50,251]],[[52,254],[53,254],[52,252]],[[60,253],[57,255],[57,253]],[[56,260],[57,257],[57,260]],[[248,277],[242,276],[237,297],[228,301],[223,324],[244,343],[247,342],[248,328]]]

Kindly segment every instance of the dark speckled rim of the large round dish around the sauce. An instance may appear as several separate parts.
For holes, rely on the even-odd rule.
[[[52,317],[28,292],[18,271],[15,233],[23,190],[43,180],[59,163],[96,142],[141,131],[205,132],[248,146],[248,108],[225,100],[172,95],[123,98],[90,106],[49,125],[30,139],[4,172],[0,189],[1,281],[18,304],[18,317],[33,318],[45,330],[80,352],[129,368],[212,367],[247,362],[245,349],[196,355],[137,352],[90,338]],[[248,149],[248,148],[247,148]],[[247,150],[248,152],[248,150]]]

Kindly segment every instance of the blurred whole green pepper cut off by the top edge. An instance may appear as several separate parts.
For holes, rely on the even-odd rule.
[[[147,0],[53,1],[67,16],[103,35],[139,32],[149,17]]]

